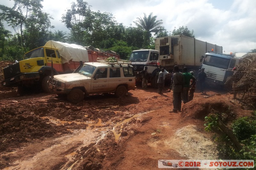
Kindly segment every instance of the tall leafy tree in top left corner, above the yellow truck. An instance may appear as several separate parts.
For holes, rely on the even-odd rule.
[[[12,26],[18,36],[18,42],[23,48],[25,48],[26,40],[24,39],[24,29],[26,29],[26,27],[28,28],[28,30],[26,30],[26,36],[31,35],[31,39],[33,39],[35,38],[36,31],[42,31],[49,25],[48,14],[41,10],[43,8],[41,4],[42,1],[43,0],[14,0],[14,6],[12,8],[0,5],[0,9],[2,10],[0,17],[5,20],[9,26]],[[32,24],[36,25],[32,26]],[[32,29],[35,27],[41,28]],[[33,33],[31,32],[32,30]]]

